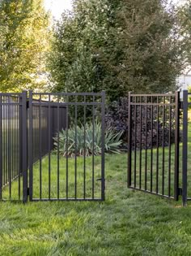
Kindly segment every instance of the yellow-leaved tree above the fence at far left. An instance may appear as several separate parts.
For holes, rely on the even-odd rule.
[[[48,50],[43,0],[0,0],[0,90],[40,89]]]

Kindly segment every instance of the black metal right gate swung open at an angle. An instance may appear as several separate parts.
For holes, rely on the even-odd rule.
[[[128,133],[128,187],[178,200],[180,93],[129,93]]]

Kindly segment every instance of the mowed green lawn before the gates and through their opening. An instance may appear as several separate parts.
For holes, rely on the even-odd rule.
[[[105,167],[105,202],[1,202],[0,255],[191,255],[191,202],[127,189],[126,154]]]

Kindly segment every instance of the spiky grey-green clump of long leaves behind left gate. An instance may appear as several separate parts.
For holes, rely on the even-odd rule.
[[[75,150],[77,150],[78,155],[99,155],[102,152],[101,134],[101,124],[99,122],[96,122],[94,127],[93,124],[86,124],[85,128],[83,125],[77,125],[76,128],[75,126],[70,127],[68,130],[68,141],[66,139],[66,130],[62,130],[62,132],[59,132],[60,154],[66,156],[66,150],[68,147],[68,155],[71,157],[74,156]],[[114,154],[120,153],[120,146],[122,144],[121,135],[122,132],[115,132],[112,127],[106,128],[104,137],[105,152]],[[56,150],[58,147],[57,139],[57,137],[54,138],[54,145],[56,146]],[[77,141],[77,143],[75,143],[75,141]]]

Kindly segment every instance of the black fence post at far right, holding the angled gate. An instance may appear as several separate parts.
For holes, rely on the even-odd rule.
[[[188,90],[183,91],[183,134],[182,134],[182,203],[187,205],[188,167]]]

